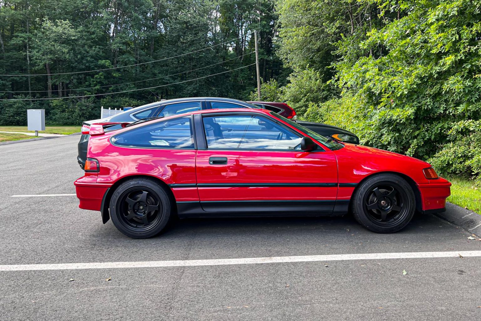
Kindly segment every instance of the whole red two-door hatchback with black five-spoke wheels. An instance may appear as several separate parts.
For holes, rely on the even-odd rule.
[[[375,232],[444,210],[451,183],[421,160],[341,143],[265,109],[92,125],[80,208],[147,238],[170,218],[344,215]],[[118,127],[118,126],[117,126]]]

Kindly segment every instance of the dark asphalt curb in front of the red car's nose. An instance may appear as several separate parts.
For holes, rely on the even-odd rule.
[[[478,213],[446,202],[446,211],[434,215],[456,224],[472,234],[481,235],[481,215]]]

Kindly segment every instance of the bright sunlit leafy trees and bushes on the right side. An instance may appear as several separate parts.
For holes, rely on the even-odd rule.
[[[298,114],[429,160],[444,175],[479,175],[480,0],[278,0],[277,8],[279,52],[294,71],[278,90]],[[324,97],[296,96],[323,86]]]

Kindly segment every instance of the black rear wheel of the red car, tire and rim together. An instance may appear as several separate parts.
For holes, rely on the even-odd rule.
[[[110,216],[125,235],[145,239],[164,231],[172,216],[172,201],[164,187],[149,179],[127,180],[110,199]]]

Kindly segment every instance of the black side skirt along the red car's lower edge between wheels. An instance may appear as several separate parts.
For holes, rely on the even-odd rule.
[[[257,216],[340,216],[349,201],[214,201],[177,202],[179,218]]]

